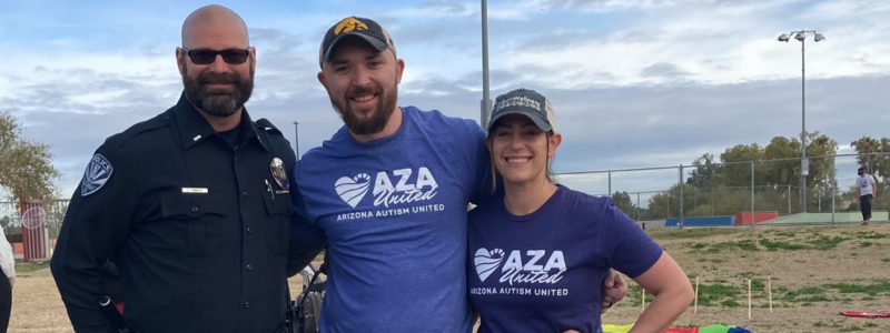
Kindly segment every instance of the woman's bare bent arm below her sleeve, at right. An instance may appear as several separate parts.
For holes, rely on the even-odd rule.
[[[629,333],[664,332],[695,296],[685,272],[668,252],[634,281],[655,297]]]

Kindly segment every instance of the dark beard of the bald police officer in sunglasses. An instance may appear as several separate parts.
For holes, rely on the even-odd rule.
[[[235,90],[214,89],[207,87],[211,83],[231,83]],[[186,69],[182,73],[182,85],[186,98],[195,108],[216,117],[229,117],[244,107],[254,92],[254,69],[247,80],[238,73],[204,72],[197,79],[188,75]]]

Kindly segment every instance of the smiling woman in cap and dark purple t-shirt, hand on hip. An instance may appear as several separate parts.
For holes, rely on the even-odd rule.
[[[602,332],[600,286],[612,269],[655,296],[630,332],[670,327],[692,302],[689,279],[612,199],[551,180],[562,137],[547,99],[525,89],[500,95],[487,130],[504,191],[469,212],[478,332]]]

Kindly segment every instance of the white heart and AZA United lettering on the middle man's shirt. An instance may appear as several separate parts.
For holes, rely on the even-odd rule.
[[[373,189],[372,189],[373,186]],[[427,201],[436,196],[438,183],[426,167],[416,170],[398,169],[380,171],[372,180],[367,173],[353,178],[343,176],[334,183],[337,195],[352,208],[365,199],[368,191],[374,196],[375,206],[389,208],[390,204]]]

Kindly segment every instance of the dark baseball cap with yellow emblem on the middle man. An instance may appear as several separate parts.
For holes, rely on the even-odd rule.
[[[360,37],[377,51],[383,52],[386,49],[390,49],[393,54],[396,54],[393,39],[389,38],[389,33],[380,24],[372,19],[348,17],[332,26],[325,33],[322,49],[318,51],[318,64],[322,65],[325,61],[328,61],[334,47],[348,36]]]

